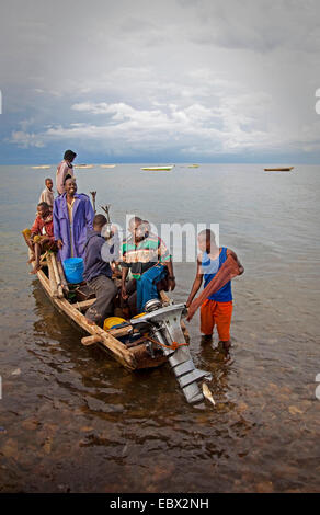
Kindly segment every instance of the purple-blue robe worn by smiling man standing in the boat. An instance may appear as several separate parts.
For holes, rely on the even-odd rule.
[[[82,258],[87,233],[93,229],[94,211],[88,195],[76,193],[72,209],[72,248],[73,258]],[[54,234],[55,240],[61,240],[64,247],[59,250],[59,260],[64,262],[71,258],[70,220],[67,206],[67,194],[58,196],[54,202]]]

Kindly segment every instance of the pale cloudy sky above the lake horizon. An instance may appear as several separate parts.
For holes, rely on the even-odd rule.
[[[0,48],[1,163],[319,162],[318,0],[7,0]]]

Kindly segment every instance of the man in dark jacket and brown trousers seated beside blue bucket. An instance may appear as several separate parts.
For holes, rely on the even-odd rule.
[[[107,247],[107,242],[101,236],[101,230],[105,225],[105,216],[95,215],[93,230],[89,232],[84,245],[83,278],[96,296],[95,302],[87,310],[85,318],[90,324],[96,323],[98,325],[103,325],[104,319],[113,314],[113,299],[117,295],[110,263],[117,260],[118,247],[116,242]]]

